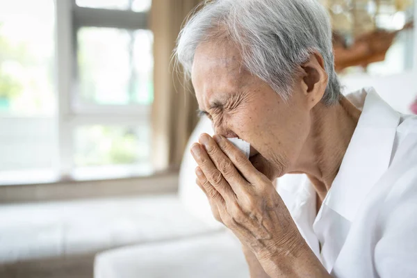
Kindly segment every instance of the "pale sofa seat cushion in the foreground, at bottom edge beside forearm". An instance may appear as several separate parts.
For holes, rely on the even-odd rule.
[[[227,232],[101,253],[95,278],[250,277],[240,243]]]

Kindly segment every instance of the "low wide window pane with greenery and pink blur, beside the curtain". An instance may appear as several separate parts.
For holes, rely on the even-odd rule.
[[[149,126],[80,126],[75,133],[76,166],[149,164]]]

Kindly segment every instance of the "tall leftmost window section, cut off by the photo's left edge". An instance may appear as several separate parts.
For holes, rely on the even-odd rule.
[[[50,172],[56,159],[54,8],[0,2],[0,179]]]

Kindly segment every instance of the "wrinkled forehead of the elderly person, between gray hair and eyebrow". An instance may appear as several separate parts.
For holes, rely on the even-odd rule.
[[[195,51],[191,72],[199,105],[205,106],[213,95],[236,92],[243,85],[246,74],[240,52],[233,44],[200,44]]]

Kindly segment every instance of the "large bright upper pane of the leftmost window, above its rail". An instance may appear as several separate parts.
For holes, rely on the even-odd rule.
[[[54,1],[0,2],[0,113],[54,113]]]

